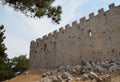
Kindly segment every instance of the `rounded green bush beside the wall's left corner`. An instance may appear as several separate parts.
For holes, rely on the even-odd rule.
[[[20,55],[19,57],[14,57],[11,59],[11,64],[13,66],[13,71],[16,72],[24,72],[28,69],[28,59],[26,58],[26,55]]]

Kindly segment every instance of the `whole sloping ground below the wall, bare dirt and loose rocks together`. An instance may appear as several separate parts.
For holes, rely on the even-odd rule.
[[[120,60],[81,61],[56,69],[31,69],[5,82],[120,82]]]

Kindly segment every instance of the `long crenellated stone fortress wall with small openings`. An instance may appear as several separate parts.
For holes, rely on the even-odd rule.
[[[79,64],[81,60],[99,61],[120,58],[120,6],[89,14],[89,19],[74,21],[65,28],[31,41],[30,67],[55,68]]]

